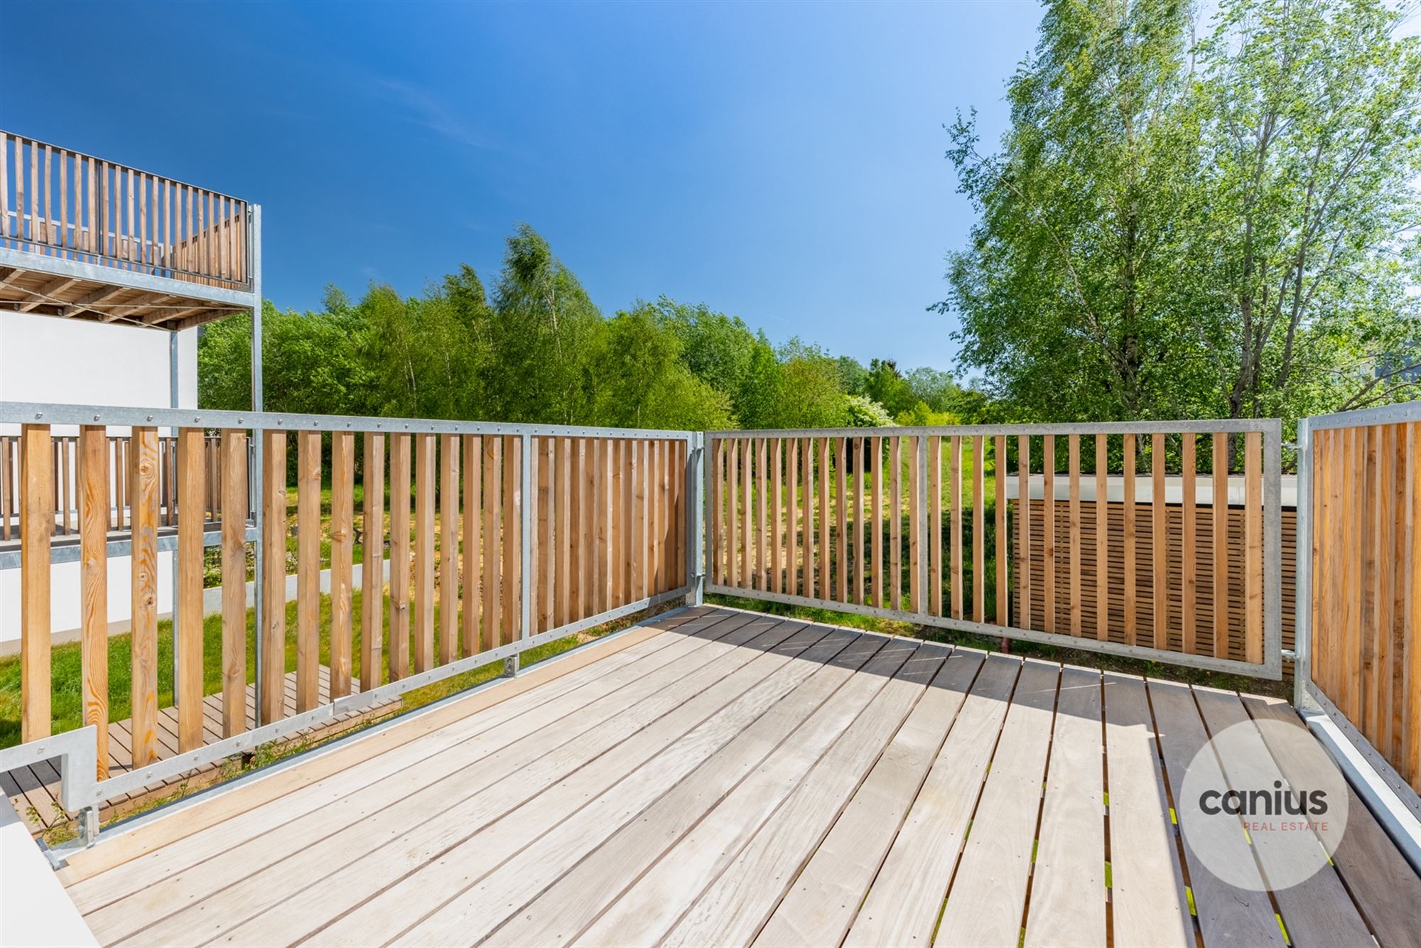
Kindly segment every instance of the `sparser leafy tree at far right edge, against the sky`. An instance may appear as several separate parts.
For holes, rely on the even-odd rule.
[[[1421,45],[1393,37],[1405,13],[1228,0],[1199,47],[1209,202],[1184,222],[1177,308],[1229,416],[1415,392],[1388,360],[1421,345]]]

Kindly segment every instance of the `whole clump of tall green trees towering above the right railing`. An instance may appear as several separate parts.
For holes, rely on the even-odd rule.
[[[1378,0],[1052,1],[949,256],[962,362],[1022,418],[1297,415],[1405,397],[1421,60]]]

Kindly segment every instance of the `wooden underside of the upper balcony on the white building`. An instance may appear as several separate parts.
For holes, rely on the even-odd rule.
[[[243,313],[247,307],[183,293],[0,267],[0,310],[152,330],[186,330]]]

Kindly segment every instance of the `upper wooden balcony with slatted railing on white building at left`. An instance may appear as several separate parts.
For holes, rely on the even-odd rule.
[[[259,208],[0,129],[0,306],[183,330],[249,310]]]

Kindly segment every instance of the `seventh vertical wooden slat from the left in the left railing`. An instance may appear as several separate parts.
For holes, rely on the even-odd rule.
[[[296,435],[296,712],[321,704],[321,432]]]

